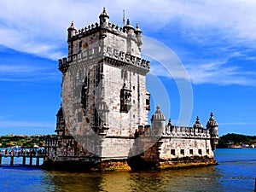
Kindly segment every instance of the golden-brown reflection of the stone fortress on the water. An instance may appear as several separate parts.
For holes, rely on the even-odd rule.
[[[215,166],[166,172],[48,172],[55,191],[216,191]],[[49,179],[49,177],[48,177]],[[48,180],[44,181],[49,185]],[[207,187],[207,188],[206,188]]]

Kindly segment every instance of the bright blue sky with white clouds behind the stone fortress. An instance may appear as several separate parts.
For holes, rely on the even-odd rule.
[[[189,125],[197,115],[206,125],[213,112],[220,135],[256,135],[255,1],[9,0],[0,7],[0,135],[54,133],[61,103],[57,60],[67,56],[67,27],[72,20],[77,28],[95,23],[103,7],[119,26],[125,9],[143,36],[177,55],[193,89]],[[151,73],[166,87],[176,124],[181,101],[174,79],[180,77],[155,61]]]

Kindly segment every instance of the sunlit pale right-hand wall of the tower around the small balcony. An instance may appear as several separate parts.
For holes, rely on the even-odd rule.
[[[104,101],[108,103],[108,136],[134,135],[137,125],[148,124],[146,110],[147,90],[145,76],[126,70],[125,67],[104,65]],[[125,77],[122,74],[125,73]],[[124,87],[131,90],[131,109],[120,113],[120,90]]]

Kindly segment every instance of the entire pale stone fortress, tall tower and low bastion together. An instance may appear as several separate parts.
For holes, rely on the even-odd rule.
[[[56,138],[45,141],[46,168],[80,170],[166,169],[214,165],[218,124],[174,126],[160,107],[148,125],[149,61],[141,58],[142,31],[127,20],[67,29],[68,56],[59,60],[61,108]]]

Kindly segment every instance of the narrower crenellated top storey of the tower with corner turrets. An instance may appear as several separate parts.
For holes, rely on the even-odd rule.
[[[96,22],[76,29],[73,22],[67,28],[68,62],[74,59],[87,59],[87,56],[108,56],[118,61],[136,63],[140,67],[149,67],[149,61],[141,60],[142,30],[137,25],[131,26],[127,20],[125,26],[111,24],[106,9]],[[114,57],[112,56],[114,55]]]

